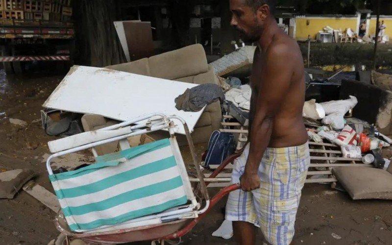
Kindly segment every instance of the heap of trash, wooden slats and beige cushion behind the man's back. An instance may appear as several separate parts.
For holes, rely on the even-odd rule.
[[[323,103],[315,99],[305,102],[303,117],[311,152],[307,182],[333,182],[333,187],[347,191],[353,199],[392,199],[388,184],[392,183],[392,166],[382,154],[382,148],[390,147],[392,139],[374,125],[351,117],[357,103],[354,96]],[[377,181],[383,182],[374,185]]]

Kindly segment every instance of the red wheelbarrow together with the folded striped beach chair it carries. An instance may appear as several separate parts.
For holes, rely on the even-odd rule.
[[[174,127],[177,125],[174,124],[173,120],[181,122],[182,125],[179,126],[183,126],[185,129],[197,178],[188,176],[174,135]],[[127,141],[128,137],[157,130],[167,130],[170,134],[170,138],[139,147],[129,146]],[[119,141],[121,148],[119,152],[98,156],[94,147],[115,141]],[[233,162],[240,153],[227,158],[209,178],[204,178],[196,160],[195,147],[189,128],[185,121],[177,116],[166,116],[160,113],[150,114],[96,131],[84,132],[51,141],[48,143],[48,146],[49,150],[53,153],[47,160],[49,179],[52,182],[62,207],[62,210],[55,218],[55,226],[62,234],[66,235],[67,243],[64,244],[68,244],[68,238],[80,239],[86,244],[122,244],[138,241],[162,242],[165,240],[178,239],[192,230],[192,228],[208,214],[222,197],[239,189],[239,184],[232,184],[221,189],[218,194],[210,199],[206,186],[210,182],[226,182],[227,179],[215,177],[228,163]],[[96,158],[95,164],[76,171],[60,174],[53,173],[50,166],[53,158],[86,149],[92,150],[93,155]],[[166,151],[164,152],[164,150]],[[165,154],[169,157],[166,157],[163,160],[158,159],[161,155]],[[158,160],[149,163],[148,159],[150,158],[157,158]],[[168,159],[171,160],[169,161]],[[143,196],[137,200],[134,200],[134,196],[129,196],[131,199],[126,199],[128,198],[128,193],[137,193],[137,191],[141,190],[141,188],[137,189],[138,187],[135,187],[135,185],[138,186],[140,185],[140,182],[143,181],[135,182],[135,179],[119,180],[121,178],[117,176],[128,178],[132,174],[135,174],[136,169],[139,170],[144,167],[142,165],[139,166],[143,161],[148,162],[143,164],[156,164],[159,161],[162,161],[157,165],[159,167],[163,166],[163,161],[165,161],[165,164],[170,163],[175,166],[171,165],[172,167],[161,170],[162,172],[147,172],[145,173],[146,175],[136,178],[139,180],[153,180],[158,184],[150,185],[147,181],[147,186],[142,188],[155,185],[155,187],[150,189],[157,192],[157,189],[168,186],[162,184],[164,181],[159,182],[161,181],[159,178],[165,178],[168,174],[177,174],[178,176],[173,175],[174,178],[170,179],[170,181],[173,179],[181,180],[181,185],[175,189],[176,191],[172,194],[169,192],[155,193],[156,195],[161,195],[157,196],[155,199],[151,199],[151,196],[146,194],[151,191],[148,191],[147,189],[147,191],[139,192],[142,193],[141,195],[147,196]],[[124,172],[124,168],[128,169]],[[149,171],[153,168],[145,169]],[[150,174],[149,177],[148,174]],[[113,176],[115,178],[113,178]],[[111,181],[107,181],[109,178]],[[116,181],[118,183],[113,184],[113,182]],[[192,187],[191,182],[196,182],[196,188],[195,185]],[[103,186],[103,183],[108,184],[109,186]],[[103,187],[101,188],[101,186]],[[100,189],[98,190],[97,188]],[[125,190],[123,191],[122,188],[125,188]],[[136,189],[129,190],[130,188]],[[105,193],[106,190],[109,191]],[[123,191],[123,193],[120,193],[121,191]],[[173,201],[166,201],[165,198],[169,198],[168,196],[171,195],[179,195],[178,193],[181,192],[184,193],[185,199],[181,199],[184,198],[184,196],[175,199],[176,201],[180,199],[183,200],[181,203],[175,202],[172,206],[161,206],[162,204],[172,203]],[[78,196],[78,193],[82,194]],[[198,194],[201,194],[200,197],[198,197]],[[110,197],[107,197],[108,195]],[[125,196],[124,198],[126,200],[123,196]],[[150,199],[143,204],[143,201],[146,198]],[[165,202],[163,202],[163,199],[165,199]],[[154,202],[159,204],[155,205]],[[115,204],[112,205],[112,203]],[[147,208],[149,211],[143,214],[141,214],[140,211],[143,210],[144,212],[146,208],[137,210],[132,209],[134,206],[142,205],[140,203],[147,206],[149,205],[152,208]],[[121,213],[125,212],[124,210],[126,213]],[[113,217],[116,212],[120,212],[121,215]],[[122,219],[124,215],[126,216],[126,219]]]

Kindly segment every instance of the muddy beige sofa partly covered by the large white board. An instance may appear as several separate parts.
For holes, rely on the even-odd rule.
[[[205,51],[199,44],[106,68],[181,82],[219,85],[218,76],[214,73],[212,67],[207,64]],[[207,105],[192,133],[194,143],[208,142],[211,133],[220,128],[221,116],[219,101]],[[99,123],[98,125],[97,122],[93,122],[96,120],[96,117],[86,115],[83,120],[84,129],[92,130],[92,128],[101,127]],[[106,122],[105,125],[110,122],[107,120],[99,121]],[[90,124],[94,126],[89,126]],[[151,136],[158,140],[167,137],[167,132],[153,133]],[[182,136],[179,136],[178,140],[181,145],[186,142],[185,137]]]

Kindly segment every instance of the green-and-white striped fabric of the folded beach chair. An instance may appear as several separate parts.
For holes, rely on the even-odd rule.
[[[96,161],[49,175],[72,231],[120,224],[187,202],[168,139],[98,156]]]

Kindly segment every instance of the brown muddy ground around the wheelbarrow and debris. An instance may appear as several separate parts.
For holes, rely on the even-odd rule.
[[[7,77],[0,71],[0,170],[33,169],[37,173],[35,181],[50,191],[53,190],[44,156],[49,153],[47,142],[55,137],[45,135],[40,122],[35,120],[40,118],[42,103],[61,79],[62,76],[43,74]],[[9,118],[24,120],[28,126],[10,124]],[[205,145],[198,148],[201,152]],[[78,155],[74,159],[85,160]],[[211,236],[223,220],[224,203],[223,199],[186,235],[183,244],[234,244],[233,239]],[[59,233],[52,222],[54,215],[24,191],[12,200],[1,199],[0,245],[48,244]],[[392,244],[392,201],[353,201],[346,193],[327,185],[308,184],[303,189],[295,227],[294,244]],[[341,239],[332,237],[332,233]],[[261,241],[260,233],[258,238]]]

